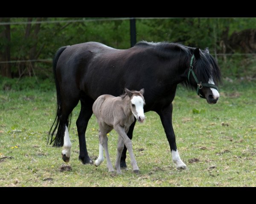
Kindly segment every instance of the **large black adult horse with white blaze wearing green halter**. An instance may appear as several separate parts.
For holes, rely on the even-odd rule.
[[[53,59],[53,73],[57,91],[57,113],[48,142],[51,138],[50,144],[54,142],[53,146],[64,146],[62,159],[69,161],[71,143],[67,127],[71,113],[80,100],[81,111],[76,126],[79,159],[83,164],[93,163],[87,153],[85,130],[97,97],[102,94],[119,96],[123,94],[124,88],[144,88],[144,111],[155,111],[160,116],[171,148],[172,160],[177,168],[186,168],[178,154],[172,127],[172,101],[177,84],[182,83],[188,88],[196,89],[198,95],[206,98],[209,104],[215,104],[219,97],[217,85],[221,82],[220,70],[208,48],[202,51],[169,42],[143,41],[124,50],[99,42],[61,47]],[[129,138],[132,138],[135,122],[128,131]],[[126,167],[126,150],[125,147],[122,152],[121,167]]]

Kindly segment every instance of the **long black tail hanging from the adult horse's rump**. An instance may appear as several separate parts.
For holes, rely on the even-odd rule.
[[[55,120],[52,124],[52,127],[55,125],[54,129],[52,130],[52,127],[49,131],[49,134],[48,134],[48,140],[47,140],[47,144],[49,143],[49,139],[50,139],[50,136],[51,136],[51,142],[50,144],[52,144],[52,142],[54,141],[53,143],[53,146],[57,146],[57,147],[62,147],[63,144],[64,144],[64,133],[65,133],[65,126],[64,124],[61,124],[60,122],[60,119],[59,119],[59,116],[61,115],[61,109],[62,109],[62,102],[61,102],[61,92],[60,92],[60,87],[59,87],[59,84],[58,84],[58,80],[57,80],[57,77],[56,77],[56,67],[57,67],[57,62],[58,62],[58,59],[61,55],[61,53],[67,48],[66,47],[61,47],[58,49],[58,51],[56,52],[54,58],[53,58],[53,75],[54,75],[54,80],[55,80],[55,85],[56,85],[56,91],[57,91],[57,108],[56,108],[56,116],[55,116]],[[69,119],[68,121],[70,121],[71,123],[71,114],[69,116]],[[68,124],[67,124],[68,125]],[[58,130],[57,130],[58,128]],[[52,139],[55,131],[57,130],[57,133],[56,133],[56,136],[54,139]]]

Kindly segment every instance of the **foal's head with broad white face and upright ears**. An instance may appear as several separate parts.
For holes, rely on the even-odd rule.
[[[134,114],[135,118],[139,122],[144,122],[145,120],[145,115],[143,110],[143,107],[145,105],[145,99],[143,97],[144,88],[141,89],[140,91],[130,91],[127,88],[125,88],[125,93],[130,98],[129,105],[131,108],[131,112]]]

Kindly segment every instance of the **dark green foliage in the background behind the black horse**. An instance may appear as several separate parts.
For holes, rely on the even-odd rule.
[[[29,18],[11,18],[11,22],[27,22]],[[32,22],[39,18],[32,18]],[[41,18],[43,21],[56,20],[90,20],[92,18]],[[225,37],[230,37],[233,32],[242,31],[247,28],[255,28],[256,18],[171,18],[171,19],[137,19],[137,41],[168,41],[180,42],[184,45],[206,48],[210,53],[222,53],[220,42]],[[35,33],[35,23],[31,24],[28,37],[25,37],[28,24],[11,25],[11,59],[23,60],[49,59],[51,60],[57,49],[64,45],[73,45],[81,42],[96,41],[108,46],[127,49],[130,47],[130,22],[129,20],[103,20],[85,21],[75,23],[41,23],[38,34]],[[0,26],[0,31],[4,29]],[[227,36],[225,31],[228,31]],[[0,49],[8,43],[0,39]],[[32,48],[36,47],[35,52]],[[218,56],[221,71],[224,76],[241,77],[243,74],[250,75],[254,70],[255,61],[247,56],[229,57],[222,62]],[[245,63],[244,63],[245,62]],[[249,62],[249,63],[247,63]],[[26,62],[12,63],[12,72],[19,76],[23,72],[28,73],[32,67],[34,73],[39,77],[49,78],[52,76],[51,63],[49,62]],[[22,68],[19,72],[18,68]],[[27,70],[26,70],[27,69]],[[31,72],[31,71],[30,71]],[[30,74],[33,74],[32,72]]]

